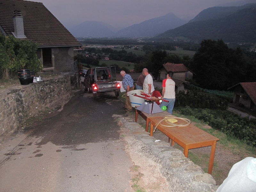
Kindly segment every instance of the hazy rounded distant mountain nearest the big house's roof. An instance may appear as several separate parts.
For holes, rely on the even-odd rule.
[[[104,22],[84,21],[70,28],[70,33],[75,37],[113,37],[114,28]]]

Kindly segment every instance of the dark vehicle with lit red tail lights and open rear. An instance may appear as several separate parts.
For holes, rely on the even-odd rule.
[[[97,98],[100,92],[115,92],[119,96],[120,84],[116,81],[116,67],[97,67],[88,69],[84,77],[84,91],[93,93],[93,98]]]

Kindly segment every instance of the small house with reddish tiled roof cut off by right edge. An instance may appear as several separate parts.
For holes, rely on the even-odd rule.
[[[256,82],[238,83],[228,90],[234,91],[233,103],[256,111]]]

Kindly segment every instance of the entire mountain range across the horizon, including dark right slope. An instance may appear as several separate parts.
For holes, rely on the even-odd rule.
[[[222,39],[224,42],[256,42],[255,18],[256,3],[210,7],[189,21],[169,13],[119,31],[97,21],[84,21],[69,31],[76,37],[151,37],[156,41],[185,39],[200,42],[203,39]]]

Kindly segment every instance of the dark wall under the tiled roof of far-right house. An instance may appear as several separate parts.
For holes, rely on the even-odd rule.
[[[251,98],[241,86],[236,86],[234,89],[233,103],[237,103],[238,105],[248,109],[251,109],[252,107],[252,110],[256,111],[253,102],[251,102]]]

